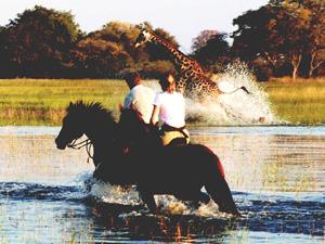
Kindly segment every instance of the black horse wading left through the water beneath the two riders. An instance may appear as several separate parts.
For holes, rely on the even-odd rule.
[[[135,111],[122,111],[116,123],[101,104],[77,102],[67,107],[55,142],[63,150],[86,134],[94,149],[94,177],[110,184],[135,184],[152,211],[157,209],[155,194],[171,194],[196,203],[211,196],[220,211],[240,215],[211,150],[202,144],[161,146],[154,130]]]

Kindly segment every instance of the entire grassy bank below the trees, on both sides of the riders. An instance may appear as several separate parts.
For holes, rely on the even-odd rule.
[[[325,79],[272,80],[261,86],[274,111],[294,124],[325,124]],[[118,112],[123,80],[0,80],[0,125],[58,126],[70,101],[98,101]]]

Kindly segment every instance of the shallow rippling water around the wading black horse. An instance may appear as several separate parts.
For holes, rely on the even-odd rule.
[[[220,157],[240,219],[169,196],[153,216],[134,191],[84,183],[93,166],[55,147],[58,129],[0,127],[0,243],[323,242],[325,127],[191,129]]]

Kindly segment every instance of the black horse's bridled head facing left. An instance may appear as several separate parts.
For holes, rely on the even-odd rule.
[[[55,139],[57,149],[64,150],[75,139],[84,133],[84,113],[82,113],[82,102],[72,103],[66,108],[66,116],[63,118],[61,131]]]

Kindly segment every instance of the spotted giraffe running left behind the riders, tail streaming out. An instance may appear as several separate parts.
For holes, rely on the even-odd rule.
[[[185,55],[171,43],[156,34],[142,28],[135,40],[135,48],[147,42],[165,48],[173,57],[173,64],[180,70],[180,79],[177,81],[177,89],[187,98],[203,100],[207,95],[220,95],[222,93],[233,93],[239,89],[249,93],[245,87],[236,88],[231,92],[221,91],[218,85],[205,74],[197,61]]]

